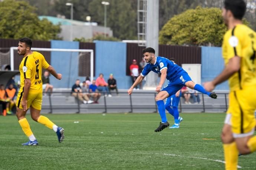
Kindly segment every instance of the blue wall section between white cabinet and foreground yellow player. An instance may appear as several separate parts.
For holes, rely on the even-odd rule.
[[[201,47],[201,82],[211,81],[224,69],[221,47]],[[216,90],[229,90],[225,81]]]

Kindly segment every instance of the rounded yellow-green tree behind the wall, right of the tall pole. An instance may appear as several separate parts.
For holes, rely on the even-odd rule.
[[[220,46],[226,31],[219,8],[187,10],[171,18],[160,31],[160,44]]]

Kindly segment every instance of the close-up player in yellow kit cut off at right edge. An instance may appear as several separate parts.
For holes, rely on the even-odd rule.
[[[228,27],[222,45],[225,68],[213,81],[204,84],[207,91],[212,91],[229,79],[229,109],[221,134],[228,170],[237,169],[239,152],[256,151],[256,33],[242,24],[245,11],[243,0],[224,1],[222,16]]]

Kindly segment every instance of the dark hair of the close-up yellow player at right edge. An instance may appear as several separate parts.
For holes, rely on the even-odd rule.
[[[224,8],[230,10],[234,18],[242,20],[246,11],[246,3],[244,0],[225,0]]]

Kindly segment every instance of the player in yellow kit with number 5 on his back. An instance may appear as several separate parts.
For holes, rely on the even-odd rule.
[[[17,96],[16,116],[19,120],[23,132],[29,137],[29,142],[23,143],[26,145],[38,145],[36,137],[30,129],[29,122],[26,119],[26,112],[30,108],[30,115],[36,122],[42,123],[47,128],[53,129],[59,142],[64,139],[64,129],[56,126],[45,116],[40,115],[42,105],[42,68],[47,69],[55,78],[61,79],[62,75],[57,74],[55,69],[49,65],[45,57],[36,51],[31,51],[32,41],[29,38],[21,38],[19,40],[18,54],[23,55],[20,63],[20,91]]]

